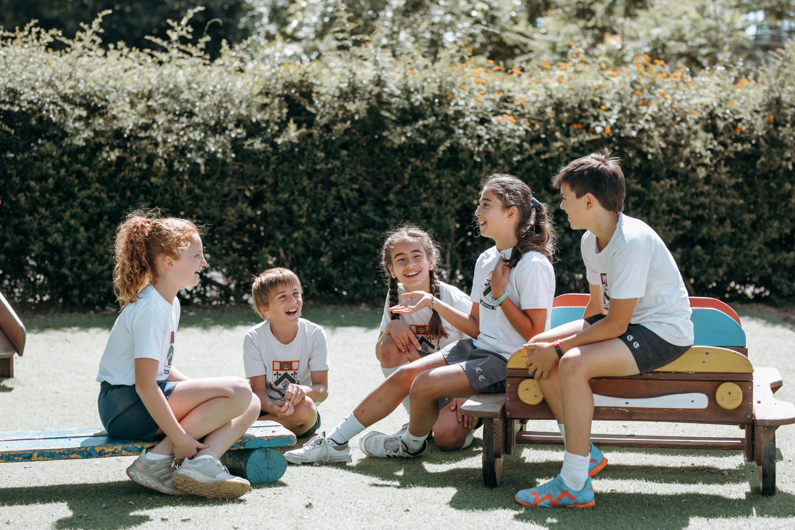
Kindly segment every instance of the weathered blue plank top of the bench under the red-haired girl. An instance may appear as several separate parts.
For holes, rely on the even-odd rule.
[[[273,421],[258,421],[230,450],[295,445],[295,435]],[[133,456],[157,443],[108,436],[101,429],[52,429],[0,433],[0,462],[38,462]]]

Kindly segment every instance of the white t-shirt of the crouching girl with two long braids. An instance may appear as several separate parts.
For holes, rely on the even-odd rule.
[[[405,294],[405,292],[406,290],[403,284],[397,284],[398,296]],[[469,315],[472,312],[472,303],[467,293],[453,285],[445,284],[443,281],[439,282],[439,299],[452,308],[458,309],[464,315]],[[422,308],[420,311],[413,312],[409,315],[400,315],[400,321],[408,326],[414,336],[417,337],[417,342],[420,342],[421,350],[426,354],[439,351],[451,342],[456,342],[468,336],[442,317],[442,327],[444,331],[447,331],[448,336],[446,339],[433,339],[428,335],[428,327],[432,315],[433,310],[431,308]],[[384,303],[384,315],[381,319],[382,332],[386,331],[386,326],[388,326],[390,322],[392,322],[392,313],[390,313],[390,296],[389,293],[387,293],[386,302]]]

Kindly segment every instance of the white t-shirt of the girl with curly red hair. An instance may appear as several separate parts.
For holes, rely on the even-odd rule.
[[[174,359],[174,336],[180,323],[180,300],[165,300],[152,284],[127,304],[111,329],[99,360],[97,381],[111,385],[135,384],[135,359],[160,362],[157,381],[169,377]]]

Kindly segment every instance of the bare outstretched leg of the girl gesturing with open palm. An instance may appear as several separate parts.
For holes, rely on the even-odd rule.
[[[383,420],[409,395],[409,390],[412,388],[412,383],[417,376],[429,369],[440,366],[448,366],[442,354],[430,354],[409,365],[401,366],[354,408],[353,414],[356,420],[359,420],[359,423],[364,427],[370,427],[375,422]],[[467,397],[469,396],[471,396],[471,393],[467,394]],[[430,427],[436,423],[438,414],[439,408],[436,407]],[[414,415],[412,414],[411,416]],[[428,427],[429,430],[430,427]]]

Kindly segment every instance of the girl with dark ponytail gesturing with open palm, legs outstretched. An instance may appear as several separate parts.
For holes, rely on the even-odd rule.
[[[431,429],[440,446],[436,427],[442,418],[439,400],[505,392],[510,355],[549,329],[555,296],[555,274],[550,262],[555,250],[553,226],[546,205],[533,198],[527,184],[510,175],[487,177],[475,217],[480,234],[493,239],[495,245],[483,252],[475,265],[468,314],[429,292],[430,281],[425,290],[401,294],[401,304],[387,303],[390,313],[401,315],[401,319],[430,309],[471,338],[450,342],[425,356],[418,352],[421,358],[398,366],[328,437],[316,437],[301,449],[288,451],[291,462],[323,463],[331,461],[330,455],[347,455],[348,441],[388,416],[406,396],[409,424],[393,435],[370,431],[359,439],[359,449],[377,458],[417,457],[428,447],[426,439]],[[397,249],[395,246],[390,253],[393,263]],[[412,277],[411,270],[402,273],[403,277]],[[390,273],[397,280],[394,266]],[[384,331],[379,345],[382,359],[387,340],[397,344],[398,349],[402,346],[404,354],[407,350],[412,353],[408,346],[417,347],[409,336],[413,334],[398,331],[401,320],[391,318],[390,338],[384,337]],[[462,442],[463,439],[458,441]],[[447,448],[455,447],[461,445],[450,444]]]

